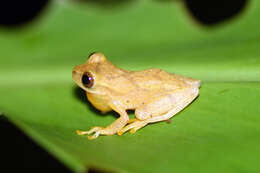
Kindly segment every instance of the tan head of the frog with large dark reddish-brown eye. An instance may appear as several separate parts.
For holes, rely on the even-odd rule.
[[[85,91],[105,94],[109,80],[123,71],[110,63],[102,53],[90,54],[85,64],[77,65],[72,71],[74,81]]]

